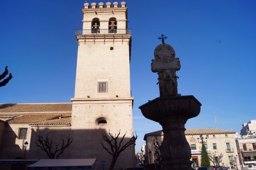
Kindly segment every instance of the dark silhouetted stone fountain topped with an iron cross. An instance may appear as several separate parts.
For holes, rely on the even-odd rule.
[[[163,128],[161,156],[165,170],[193,170],[190,145],[185,138],[185,124],[200,113],[202,104],[194,96],[178,94],[176,71],[180,60],[172,46],[164,43],[154,50],[151,70],[158,73],[160,97],[140,106],[146,118],[159,122]]]

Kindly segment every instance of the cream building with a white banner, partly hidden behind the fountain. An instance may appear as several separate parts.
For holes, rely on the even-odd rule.
[[[214,160],[218,162],[218,156],[223,154],[222,160],[220,161],[220,166],[226,166],[230,169],[238,167],[238,170],[241,170],[239,161],[235,160],[235,156],[238,155],[235,142],[235,134],[237,132],[229,130],[220,130],[220,129],[187,129],[185,131],[186,139],[191,148],[191,160],[193,161],[192,166],[200,166],[201,161],[201,147],[200,136],[205,138],[207,137],[207,142],[205,144],[208,154],[213,155]],[[164,133],[162,130],[151,132],[145,134],[144,140],[146,140],[146,157],[147,160],[151,157],[151,162],[154,163],[154,140],[163,140]],[[174,139],[175,140],[175,139]],[[149,156],[149,150],[152,152]],[[148,161],[149,163],[149,161]],[[214,165],[213,162],[210,162],[211,165]]]

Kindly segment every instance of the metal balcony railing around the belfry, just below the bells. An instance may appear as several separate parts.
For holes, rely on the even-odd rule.
[[[132,29],[91,29],[76,30],[76,35],[132,34]]]

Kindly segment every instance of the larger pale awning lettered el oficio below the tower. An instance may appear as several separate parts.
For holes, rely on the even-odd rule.
[[[93,159],[41,159],[28,166],[28,170],[84,170],[92,169]]]

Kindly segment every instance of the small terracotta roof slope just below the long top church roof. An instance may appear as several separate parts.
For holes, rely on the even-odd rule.
[[[58,116],[21,116],[8,121],[8,124],[28,124],[32,122],[42,122],[44,120],[57,119]]]

